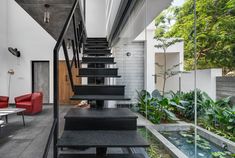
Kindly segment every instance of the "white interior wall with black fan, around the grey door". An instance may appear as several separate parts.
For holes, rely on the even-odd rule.
[[[7,63],[5,63],[6,69],[13,69],[15,71],[11,80],[10,102],[14,103],[15,96],[32,91],[32,61],[47,60],[50,61],[50,103],[52,103],[53,48],[56,41],[14,0],[8,0],[7,8],[7,46],[18,48],[21,51],[21,57],[16,58],[5,49],[7,61]],[[60,52],[60,59],[64,59],[62,51]],[[0,63],[2,63],[3,59],[1,58],[0,60]],[[4,85],[8,84],[1,78],[0,82],[4,83]]]

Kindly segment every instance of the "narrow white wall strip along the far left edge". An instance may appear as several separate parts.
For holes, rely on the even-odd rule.
[[[0,1],[0,95],[8,95],[7,75],[7,1]]]

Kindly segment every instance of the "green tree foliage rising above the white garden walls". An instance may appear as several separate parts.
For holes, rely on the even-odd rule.
[[[197,0],[197,66],[235,69],[235,1]],[[181,7],[171,6],[156,18],[156,37],[183,38],[185,68],[194,64],[194,6],[186,0]]]

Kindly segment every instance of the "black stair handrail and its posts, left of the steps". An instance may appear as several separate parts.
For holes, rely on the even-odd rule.
[[[84,1],[85,2],[85,1]],[[79,5],[79,7],[78,7]],[[63,29],[59,35],[59,38],[56,42],[56,45],[54,47],[53,50],[53,78],[54,78],[54,87],[53,87],[53,91],[54,91],[54,98],[53,98],[53,125],[47,140],[47,144],[44,150],[44,154],[43,154],[43,158],[47,158],[48,156],[48,151],[50,148],[50,144],[52,141],[52,137],[53,137],[53,158],[57,158],[58,157],[58,148],[57,148],[57,141],[58,141],[58,133],[59,133],[59,51],[61,46],[63,46],[63,50],[64,50],[64,55],[65,55],[65,60],[66,60],[66,65],[67,65],[67,69],[68,69],[68,74],[69,74],[69,79],[70,79],[70,84],[72,87],[72,90],[74,90],[74,84],[73,84],[73,77],[72,77],[72,67],[70,65],[70,61],[68,58],[68,52],[67,52],[67,48],[66,48],[66,43],[65,43],[65,35],[68,32],[69,26],[71,24],[72,20],[75,20],[75,11],[76,9],[78,9],[79,14],[81,15],[81,8],[80,8],[80,0],[75,0],[72,6],[72,9],[69,13],[68,18],[65,21],[65,24],[63,26]],[[85,16],[85,15],[84,15]],[[85,28],[85,24],[84,24],[84,19],[82,18],[81,21],[82,23],[82,36],[83,38],[86,38],[86,28]],[[76,32],[74,32],[76,33]],[[76,39],[75,39],[76,40]],[[84,42],[84,41],[80,41],[80,42]],[[79,43],[81,44],[81,43]],[[77,48],[78,49],[78,48]],[[79,62],[79,56],[77,61]]]

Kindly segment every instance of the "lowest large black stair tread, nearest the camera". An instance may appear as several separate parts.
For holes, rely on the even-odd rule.
[[[149,147],[136,130],[65,130],[58,147]]]

